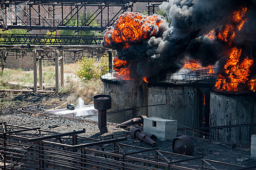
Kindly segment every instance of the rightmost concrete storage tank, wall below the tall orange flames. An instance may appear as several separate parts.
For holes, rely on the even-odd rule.
[[[254,93],[210,92],[210,127],[250,124],[256,122]],[[252,126],[211,129],[214,139],[233,143],[248,143],[256,128]]]

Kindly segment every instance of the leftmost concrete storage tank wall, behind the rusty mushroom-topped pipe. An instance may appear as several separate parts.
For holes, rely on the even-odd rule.
[[[103,94],[112,98],[112,108],[108,112],[129,109],[147,105],[146,83],[134,85],[130,80],[123,81],[103,81]],[[147,116],[147,107],[131,109],[107,115],[108,122],[122,123],[128,119],[141,115]]]

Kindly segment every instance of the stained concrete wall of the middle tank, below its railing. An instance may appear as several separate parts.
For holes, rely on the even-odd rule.
[[[178,128],[182,127],[181,125],[189,128],[204,127],[204,119],[207,117],[205,115],[209,114],[206,109],[209,104],[205,104],[209,101],[207,97],[209,97],[209,89],[206,88],[148,85],[148,117],[178,120]],[[166,100],[165,105],[150,106],[164,104]],[[192,135],[191,132],[192,130],[186,131],[186,134]]]

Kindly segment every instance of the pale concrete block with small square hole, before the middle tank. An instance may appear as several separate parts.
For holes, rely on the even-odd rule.
[[[144,118],[143,131],[157,136],[158,139],[173,140],[177,136],[177,120]]]

